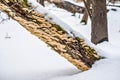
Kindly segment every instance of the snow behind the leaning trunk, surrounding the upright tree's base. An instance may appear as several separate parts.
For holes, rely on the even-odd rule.
[[[110,9],[108,13],[109,42],[104,42],[105,44],[101,43],[95,46],[92,43],[90,43],[90,39],[91,39],[90,19],[88,21],[88,24],[85,26],[80,24],[80,19],[82,18],[82,15],[80,15],[80,18],[78,18],[79,14],[76,14],[76,16],[71,16],[72,14],[70,12],[54,7],[53,5],[49,5],[50,7],[47,5],[44,8],[43,6],[39,5],[37,2],[34,2],[34,0],[28,0],[28,1],[32,3],[31,5],[33,7],[37,6],[35,10],[37,10],[38,12],[42,14],[47,13],[46,18],[48,20],[49,20],[49,17],[51,17],[52,22],[55,22],[61,25],[62,28],[66,30],[70,35],[72,35],[71,34],[72,32],[76,36],[79,36],[80,38],[84,39],[86,43],[94,47],[98,51],[98,53],[100,52],[100,54],[102,54],[102,52],[100,51],[101,49],[104,51],[104,53],[106,53],[102,55],[104,55],[107,58],[115,58],[114,56],[117,56],[118,58],[120,57],[119,55],[120,51],[118,49],[120,48],[118,46],[118,44],[120,44],[119,42],[120,37],[118,37],[120,35],[120,32],[119,32],[120,31],[120,26],[119,26],[120,9],[119,8],[115,8],[118,11],[114,12],[111,10],[111,8],[113,7],[108,7],[108,9]],[[72,0],[69,0],[69,1],[73,2]],[[113,15],[114,15],[114,18],[112,17]],[[105,46],[108,46],[108,47],[105,48]]]

